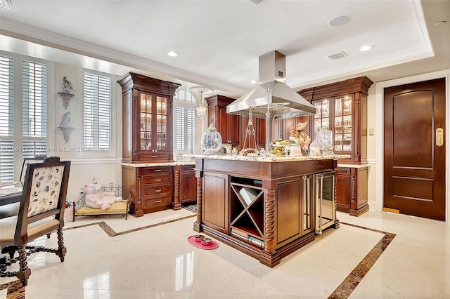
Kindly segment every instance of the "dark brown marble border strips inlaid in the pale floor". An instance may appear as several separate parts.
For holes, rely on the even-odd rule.
[[[176,222],[179,220],[184,220],[188,218],[193,218],[195,215],[188,215],[181,218],[176,218],[172,220],[167,220],[164,222],[155,223],[153,225],[146,225],[144,227],[138,227],[133,230],[125,230],[123,232],[115,232],[109,225],[107,225],[104,221],[99,222],[93,222],[86,225],[79,225],[75,227],[68,227],[64,230],[75,230],[77,228],[82,227],[88,227],[91,225],[99,225],[102,230],[108,234],[109,237],[116,237],[120,236],[122,234],[129,234],[131,232],[137,232],[139,230],[146,230],[151,227],[157,227],[160,225],[165,225],[167,223]],[[384,234],[383,238],[367,253],[367,255],[359,262],[356,267],[354,267],[354,270],[350,272],[350,274],[342,281],[342,283],[338,286],[338,288],[331,293],[331,295],[328,296],[328,299],[340,299],[340,298],[349,298],[349,295],[354,291],[356,286],[361,282],[361,280],[364,278],[364,276],[367,274],[369,270],[371,270],[371,267],[375,264],[375,262],[380,258],[381,254],[387,246],[391,243],[391,241],[394,239],[396,234],[392,234],[390,232],[383,232],[380,230],[374,230],[368,227],[362,227],[359,225],[352,225],[350,223],[340,222],[341,225],[349,225],[352,227],[361,228],[363,230],[370,230],[372,232],[379,232],[381,234]],[[22,284],[20,284],[20,281],[12,281],[8,284],[0,284],[0,290],[3,290],[5,288],[8,288],[8,295],[6,295],[6,299],[25,299],[25,288],[22,287]]]

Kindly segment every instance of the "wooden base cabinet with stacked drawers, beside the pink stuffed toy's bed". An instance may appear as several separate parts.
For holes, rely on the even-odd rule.
[[[172,205],[172,166],[122,166],[122,185],[131,192],[130,214],[165,210]]]

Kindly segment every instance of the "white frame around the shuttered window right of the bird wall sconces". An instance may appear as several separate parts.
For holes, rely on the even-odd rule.
[[[89,147],[84,147],[84,74],[96,74],[102,77],[109,77],[111,79],[111,147],[110,150],[93,150]],[[115,75],[94,71],[92,69],[81,68],[79,72],[78,81],[78,128],[79,134],[77,136],[77,145],[79,145],[79,150],[77,150],[78,158],[112,158],[116,157],[116,132],[117,132],[117,105],[116,105],[116,79]]]

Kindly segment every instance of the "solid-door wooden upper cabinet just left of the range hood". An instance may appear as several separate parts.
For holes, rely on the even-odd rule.
[[[222,136],[222,142],[229,145],[238,145],[240,131],[240,116],[226,113],[226,106],[235,99],[224,95],[212,95],[205,98],[208,103],[208,119],[214,122],[214,126]]]

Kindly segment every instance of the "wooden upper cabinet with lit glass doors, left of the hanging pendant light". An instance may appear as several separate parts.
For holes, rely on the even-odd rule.
[[[172,99],[180,85],[134,73],[117,82],[122,86],[122,161],[172,161]]]

